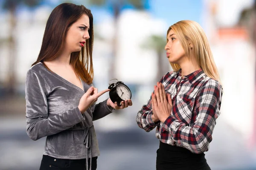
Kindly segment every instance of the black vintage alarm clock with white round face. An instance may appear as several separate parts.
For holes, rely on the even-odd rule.
[[[112,82],[116,80],[116,82]],[[113,103],[117,102],[118,106],[121,106],[121,102],[131,99],[131,90],[123,82],[118,81],[117,79],[111,79],[109,81],[109,97]]]

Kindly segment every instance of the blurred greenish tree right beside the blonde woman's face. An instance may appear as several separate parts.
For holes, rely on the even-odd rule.
[[[151,35],[142,45],[143,48],[154,50],[157,54],[157,82],[169,71],[170,64],[163,55],[165,45],[166,37],[160,35]]]

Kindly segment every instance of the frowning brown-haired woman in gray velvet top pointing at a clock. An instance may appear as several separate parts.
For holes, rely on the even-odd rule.
[[[62,3],[47,20],[38,59],[27,72],[26,132],[47,136],[40,170],[96,170],[99,147],[93,121],[132,105],[99,96],[93,81],[93,15]]]

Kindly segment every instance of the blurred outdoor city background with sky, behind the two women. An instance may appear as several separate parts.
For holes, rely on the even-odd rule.
[[[166,31],[179,20],[204,28],[221,76],[221,115],[206,158],[212,170],[256,170],[256,1],[0,0],[0,170],[38,170],[46,138],[26,134],[24,82],[38,57],[50,12],[83,4],[94,19],[94,85],[117,78],[133,106],[94,122],[99,170],[154,170],[159,141],[136,123],[157,81],[172,68]],[[98,102],[106,99],[104,94]]]

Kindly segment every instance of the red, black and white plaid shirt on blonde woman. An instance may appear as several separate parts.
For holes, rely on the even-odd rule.
[[[209,150],[216,119],[220,115],[222,87],[201,69],[181,77],[181,69],[168,72],[160,82],[172,96],[172,112],[165,122],[153,122],[151,97],[137,113],[137,124],[149,132],[156,128],[161,142],[185,147],[192,153]]]

